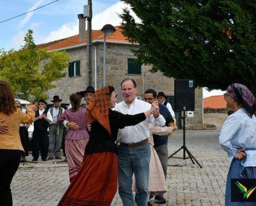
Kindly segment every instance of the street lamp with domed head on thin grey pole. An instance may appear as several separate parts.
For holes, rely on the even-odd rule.
[[[102,27],[101,31],[104,33],[103,43],[103,87],[106,86],[106,36],[113,35],[115,28],[111,24],[106,24]]]

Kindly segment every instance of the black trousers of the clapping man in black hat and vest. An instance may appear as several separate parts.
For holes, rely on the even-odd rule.
[[[48,131],[38,131],[33,132],[33,151],[32,156],[35,159],[39,157],[39,149],[41,151],[41,158],[47,158],[48,156]]]

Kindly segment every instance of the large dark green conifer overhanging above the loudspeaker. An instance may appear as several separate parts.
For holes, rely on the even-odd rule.
[[[256,2],[122,0],[123,33],[140,44],[139,61],[200,87],[227,89],[232,82],[256,94]]]

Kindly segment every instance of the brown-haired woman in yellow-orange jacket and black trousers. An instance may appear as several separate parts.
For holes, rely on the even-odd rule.
[[[34,122],[35,111],[36,106],[34,105],[28,106],[27,114],[16,109],[14,105],[14,94],[10,84],[0,80],[0,119],[1,124],[8,125],[6,132],[0,132],[1,205],[12,205],[10,184],[24,152],[19,134],[20,124]]]

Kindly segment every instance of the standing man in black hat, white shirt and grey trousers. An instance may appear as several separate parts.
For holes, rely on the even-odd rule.
[[[57,117],[65,111],[65,109],[61,107],[61,101],[62,99],[59,99],[57,95],[53,96],[52,102],[54,107],[50,108],[47,113],[47,117],[50,119],[48,160],[52,160],[53,157],[58,160],[62,159],[60,151],[62,148],[64,125],[57,125]]]

